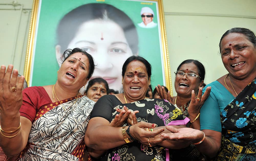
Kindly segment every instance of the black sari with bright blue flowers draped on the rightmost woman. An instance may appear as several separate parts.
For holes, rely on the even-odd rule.
[[[218,160],[256,160],[256,79],[221,112]]]

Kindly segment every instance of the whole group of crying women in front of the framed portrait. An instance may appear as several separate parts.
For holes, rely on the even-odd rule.
[[[202,88],[204,66],[185,60],[175,97],[160,85],[152,93],[141,56],[126,59],[113,95],[104,79],[89,80],[94,60],[80,48],[63,53],[54,85],[24,89],[24,76],[2,65],[0,160],[256,160],[255,34],[232,28],[219,47],[228,74]]]

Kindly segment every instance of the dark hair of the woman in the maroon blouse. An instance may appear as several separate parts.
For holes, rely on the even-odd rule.
[[[88,60],[89,60],[89,74],[87,76],[87,78],[91,78],[93,72],[94,72],[94,68],[95,68],[95,65],[94,65],[94,61],[93,61],[93,58],[90,54],[88,54],[86,51],[84,51],[83,49],[80,49],[80,48],[74,48],[73,50],[71,49],[67,49],[64,51],[64,53],[62,54],[62,57],[61,57],[61,61],[62,63],[72,54],[74,53],[82,53],[84,55],[87,56]],[[62,64],[61,63],[61,64]]]

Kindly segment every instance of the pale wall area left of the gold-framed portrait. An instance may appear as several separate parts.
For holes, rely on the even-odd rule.
[[[33,0],[0,1],[0,65],[13,64],[23,75]]]

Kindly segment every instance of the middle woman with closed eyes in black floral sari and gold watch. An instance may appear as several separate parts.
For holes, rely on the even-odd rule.
[[[189,119],[167,100],[145,97],[151,65],[140,56],[131,56],[123,65],[122,76],[124,93],[102,96],[94,105],[87,126],[86,145],[95,150],[107,150],[101,160],[130,161],[169,160],[168,148],[187,147],[190,142],[160,137],[161,133],[169,132],[166,125],[185,128]],[[205,100],[204,97],[201,100]],[[201,106],[203,102],[193,99],[190,105]],[[113,123],[119,126],[111,127]],[[204,138],[199,130],[191,134],[194,135],[190,139],[193,143]]]

